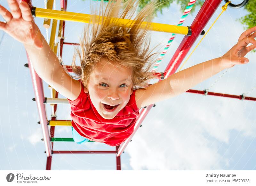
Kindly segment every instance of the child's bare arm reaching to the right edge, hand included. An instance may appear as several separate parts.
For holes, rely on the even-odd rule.
[[[138,108],[175,97],[226,68],[248,63],[249,60],[244,56],[256,48],[255,31],[256,27],[246,30],[239,37],[236,45],[220,58],[172,74],[163,81],[148,86],[145,90],[136,90],[135,99]],[[249,43],[252,45],[247,47]]]

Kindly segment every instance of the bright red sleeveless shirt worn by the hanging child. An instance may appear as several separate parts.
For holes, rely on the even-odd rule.
[[[76,100],[68,102],[71,106],[72,127],[85,138],[117,146],[123,143],[133,132],[139,109],[135,102],[133,90],[127,105],[111,119],[104,119],[92,105],[89,93],[84,92],[84,86]]]

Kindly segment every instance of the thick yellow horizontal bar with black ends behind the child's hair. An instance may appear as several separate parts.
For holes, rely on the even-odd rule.
[[[37,17],[37,18],[48,18],[48,19],[58,19],[58,20],[65,20],[65,21],[89,23],[90,17],[92,16],[90,14],[83,14],[83,13],[76,13],[76,12],[48,10],[48,9],[37,8],[37,7],[33,7],[33,8],[35,10],[32,11],[32,14],[34,17]],[[99,16],[96,16],[97,18],[96,20],[98,20],[98,17]],[[100,21],[101,21],[101,16],[100,16]],[[125,25],[126,27],[129,27],[131,24],[132,24],[132,20],[130,19],[119,19],[117,21],[116,26]],[[149,25],[148,24],[149,24],[148,22],[143,21],[142,28],[149,27],[149,30],[152,30],[152,31],[168,32],[168,33],[182,34],[182,35],[188,35],[189,33],[188,27],[168,25],[168,24],[162,24],[162,23],[150,23]]]

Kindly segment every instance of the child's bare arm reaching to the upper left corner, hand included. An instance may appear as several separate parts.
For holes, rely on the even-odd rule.
[[[16,0],[8,0],[8,4],[11,12],[0,5],[0,14],[6,21],[0,22],[0,29],[24,44],[39,77],[63,96],[75,100],[81,92],[80,82],[62,70],[59,59],[35,24],[28,4],[18,4]]]

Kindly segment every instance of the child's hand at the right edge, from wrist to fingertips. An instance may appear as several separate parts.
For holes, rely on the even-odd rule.
[[[220,66],[222,68],[231,68],[235,65],[248,63],[249,59],[244,58],[244,56],[256,48],[255,37],[256,27],[252,27],[241,34],[236,45],[220,58]],[[252,43],[252,45],[247,47],[249,43]]]

